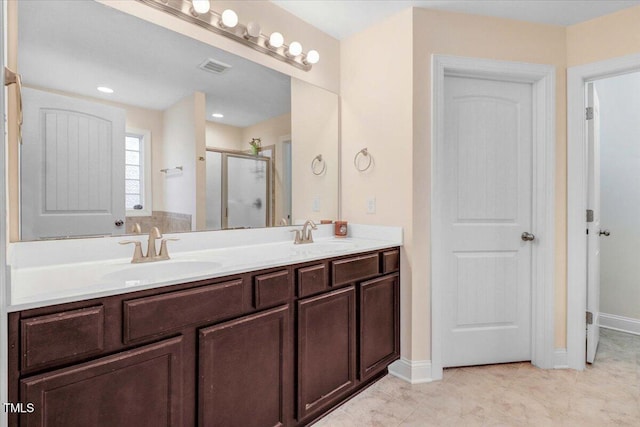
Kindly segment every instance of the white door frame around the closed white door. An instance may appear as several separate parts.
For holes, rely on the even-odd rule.
[[[555,74],[552,65],[432,56],[431,139],[431,377],[442,378],[442,284],[441,266],[436,253],[444,218],[441,215],[444,183],[438,182],[444,141],[444,78],[461,76],[489,78],[533,85],[533,204],[531,294],[531,363],[540,368],[554,367],[555,326]]]

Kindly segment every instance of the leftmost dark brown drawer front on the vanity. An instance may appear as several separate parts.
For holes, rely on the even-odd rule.
[[[20,321],[22,370],[78,360],[104,348],[102,305]]]

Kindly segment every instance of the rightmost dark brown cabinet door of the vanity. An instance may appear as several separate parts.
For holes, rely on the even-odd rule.
[[[360,284],[360,379],[375,375],[400,355],[398,275]]]

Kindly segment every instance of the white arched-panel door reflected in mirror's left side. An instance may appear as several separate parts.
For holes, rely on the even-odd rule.
[[[22,102],[21,238],[124,233],[125,111],[29,88]]]

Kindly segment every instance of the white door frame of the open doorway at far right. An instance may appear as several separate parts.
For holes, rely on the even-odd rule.
[[[567,69],[567,361],[585,368],[587,311],[587,150],[585,85],[640,71],[640,54]]]

